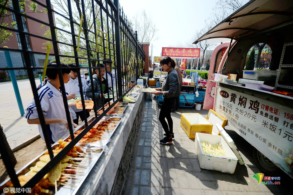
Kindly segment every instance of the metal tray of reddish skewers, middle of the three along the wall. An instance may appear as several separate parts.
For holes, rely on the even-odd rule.
[[[93,117],[95,118],[95,117]],[[86,135],[79,140],[79,143],[107,143],[121,122],[121,117],[103,117]],[[74,132],[74,137],[85,129],[85,125]],[[68,137],[65,141],[71,142]]]

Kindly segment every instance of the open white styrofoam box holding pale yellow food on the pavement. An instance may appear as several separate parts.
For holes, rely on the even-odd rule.
[[[200,142],[208,142],[212,145],[221,143],[226,156],[223,157],[215,156],[213,154],[205,154],[202,150]],[[197,133],[195,134],[194,144],[201,169],[234,174],[238,159],[222,136]]]

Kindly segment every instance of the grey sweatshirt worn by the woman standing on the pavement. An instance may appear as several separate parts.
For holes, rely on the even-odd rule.
[[[164,98],[180,96],[179,78],[174,68],[168,72],[162,84],[162,91],[165,91],[165,95],[163,95]]]

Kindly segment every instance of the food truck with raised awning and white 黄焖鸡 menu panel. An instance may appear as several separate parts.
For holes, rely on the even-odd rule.
[[[212,54],[203,108],[226,118],[227,125],[254,147],[255,163],[263,172],[280,167],[291,177],[292,8],[291,0],[251,0],[194,42],[230,39]],[[270,70],[246,70],[250,48],[261,43],[272,51]]]

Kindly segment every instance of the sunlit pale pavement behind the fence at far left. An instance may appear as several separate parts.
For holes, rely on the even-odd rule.
[[[36,86],[40,79],[35,79]],[[24,110],[33,100],[33,92],[28,79],[17,81]],[[40,137],[38,125],[30,125],[26,118],[20,115],[15,93],[11,82],[0,83],[0,124],[3,127],[7,141],[16,151]]]

